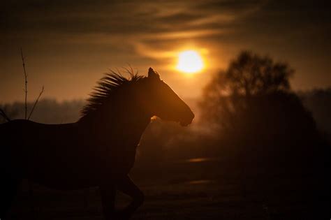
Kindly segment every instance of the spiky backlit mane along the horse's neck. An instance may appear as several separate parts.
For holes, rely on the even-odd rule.
[[[138,75],[138,72],[133,73],[132,69],[126,69],[126,72],[130,75],[128,78],[122,75],[119,71],[116,73],[115,71],[110,70],[109,73],[105,73],[105,76],[97,82],[94,91],[89,94],[87,104],[84,105],[81,111],[82,117],[101,108],[101,106],[103,106],[119,88],[124,87],[125,85],[132,85],[134,82],[138,82],[142,78],[145,78],[143,75]]]

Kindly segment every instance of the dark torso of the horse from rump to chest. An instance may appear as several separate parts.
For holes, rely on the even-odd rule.
[[[31,179],[53,189],[99,186],[105,178],[129,173],[135,148],[148,125],[142,123],[127,123],[128,131],[121,131],[116,124],[100,128],[85,122],[13,120],[0,125],[4,137],[1,167],[14,179]]]

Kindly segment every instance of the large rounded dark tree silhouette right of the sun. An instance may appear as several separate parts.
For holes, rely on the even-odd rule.
[[[203,91],[202,118],[236,140],[278,142],[315,133],[314,119],[290,90],[294,71],[253,52],[241,52]]]

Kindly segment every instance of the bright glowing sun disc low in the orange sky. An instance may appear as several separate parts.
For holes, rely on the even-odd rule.
[[[203,58],[196,50],[185,50],[178,54],[177,70],[191,74],[200,72],[203,67]]]

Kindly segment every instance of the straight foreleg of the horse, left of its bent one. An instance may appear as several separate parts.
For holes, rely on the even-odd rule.
[[[115,196],[114,184],[102,184],[100,186],[103,216],[106,220],[115,218]]]

